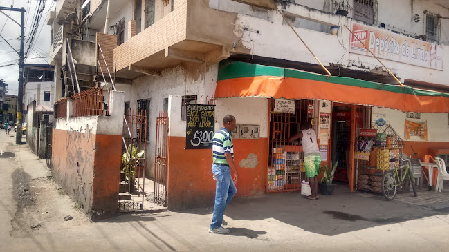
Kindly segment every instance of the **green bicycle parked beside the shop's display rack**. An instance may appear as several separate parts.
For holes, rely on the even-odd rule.
[[[414,188],[414,176],[413,172],[410,169],[412,165],[410,164],[410,158],[409,159],[403,159],[402,157],[398,157],[403,162],[406,162],[405,165],[398,167],[395,167],[392,171],[387,171],[383,173],[382,176],[382,195],[385,197],[386,200],[393,200],[394,197],[396,197],[397,188],[403,188],[404,182],[406,180],[406,177],[408,175],[408,180],[410,180],[410,186],[413,188],[414,197],[418,197],[418,194],[416,193],[416,189]],[[398,161],[397,157],[390,159],[390,162],[396,162]],[[401,170],[401,175],[399,175],[398,170]]]

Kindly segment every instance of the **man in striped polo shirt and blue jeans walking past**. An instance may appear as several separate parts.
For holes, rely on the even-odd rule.
[[[223,118],[223,127],[215,133],[212,139],[212,173],[217,181],[215,189],[215,206],[210,224],[209,233],[229,233],[229,229],[221,226],[226,206],[237,193],[237,169],[234,164],[234,145],[231,131],[235,129],[235,117],[226,115]],[[231,177],[231,171],[234,173]]]

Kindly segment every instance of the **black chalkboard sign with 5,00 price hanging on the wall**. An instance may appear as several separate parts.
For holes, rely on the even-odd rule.
[[[185,148],[212,148],[215,105],[187,104],[185,108]]]

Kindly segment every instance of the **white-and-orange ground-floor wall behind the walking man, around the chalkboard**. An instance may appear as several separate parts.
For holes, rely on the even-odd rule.
[[[261,125],[261,138],[234,139],[234,152],[239,173],[236,196],[264,193],[268,164],[268,99],[219,99],[217,106],[219,122],[224,115],[232,114],[235,115],[238,124]],[[180,96],[169,97],[169,117],[167,206],[169,209],[185,209],[213,205],[215,181],[212,180],[211,171],[212,151],[185,149],[185,122],[172,119],[181,117]],[[215,126],[216,131],[219,124]],[[182,129],[183,135],[180,134]]]

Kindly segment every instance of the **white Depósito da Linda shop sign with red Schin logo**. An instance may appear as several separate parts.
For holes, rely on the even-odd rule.
[[[352,32],[354,35],[351,35],[349,44],[351,53],[372,57],[372,54],[365,48],[366,46],[376,57],[381,59],[443,70],[443,46],[365,26],[361,23],[353,23]]]

